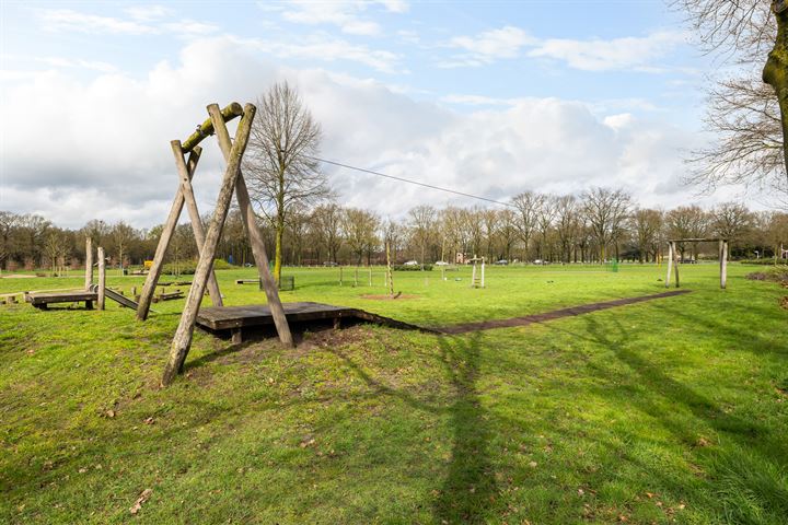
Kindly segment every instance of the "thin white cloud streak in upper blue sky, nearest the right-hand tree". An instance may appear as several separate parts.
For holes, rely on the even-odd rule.
[[[642,72],[661,72],[653,60],[669,54],[684,43],[684,33],[660,31],[645,37],[625,37],[610,40],[575,40],[549,38],[529,51],[530,57],[551,58],[584,71],[634,69]]]

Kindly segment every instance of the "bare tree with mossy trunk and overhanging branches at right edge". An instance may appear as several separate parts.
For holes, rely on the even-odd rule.
[[[688,180],[706,190],[756,184],[777,190],[788,206],[788,44],[779,36],[788,31],[785,0],[671,3],[687,14],[702,49],[737,71],[708,79],[705,122],[718,140],[691,154]]]

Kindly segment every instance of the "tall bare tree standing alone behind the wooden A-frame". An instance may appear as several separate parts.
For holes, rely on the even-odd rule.
[[[274,224],[274,278],[281,277],[282,235],[293,207],[309,207],[331,195],[314,159],[321,127],[296,90],[275,84],[257,101],[244,161],[253,198]]]

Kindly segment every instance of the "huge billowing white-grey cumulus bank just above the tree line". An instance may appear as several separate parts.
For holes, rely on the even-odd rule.
[[[101,73],[84,81],[65,70],[8,80],[0,110],[15,129],[0,138],[0,209],[40,212],[69,226],[93,218],[160,223],[177,187],[170,140],[187,137],[206,118],[208,103],[254,101],[285,79],[323,126],[323,158],[496,199],[524,189],[579,192],[604,185],[658,205],[665,196],[653,190],[683,173],[677,149],[696,140],[658,120],[600,116],[587,104],[558,98],[519,98],[461,114],[375,81],[287,69],[258,57],[254,46],[242,50],[237,40],[213,38],[185,46],[177,63],[161,62],[142,78]],[[222,164],[208,139],[195,176],[202,211],[215,203]],[[475,203],[326,171],[343,203],[383,215],[419,203]],[[691,198],[684,188],[673,191],[671,205]]]

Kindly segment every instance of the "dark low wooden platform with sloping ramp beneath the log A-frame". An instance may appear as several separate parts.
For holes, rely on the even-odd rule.
[[[383,317],[378,314],[364,312],[347,306],[334,306],[322,303],[283,303],[285,316],[292,325],[310,322],[333,320],[334,327],[339,327],[343,319],[364,320],[393,328],[409,330],[432,331],[419,326],[409,325],[399,320]],[[246,306],[209,306],[200,308],[197,314],[197,326],[215,331],[231,330],[233,341],[241,342],[241,329],[252,327],[273,326],[270,308],[265,304]]]

